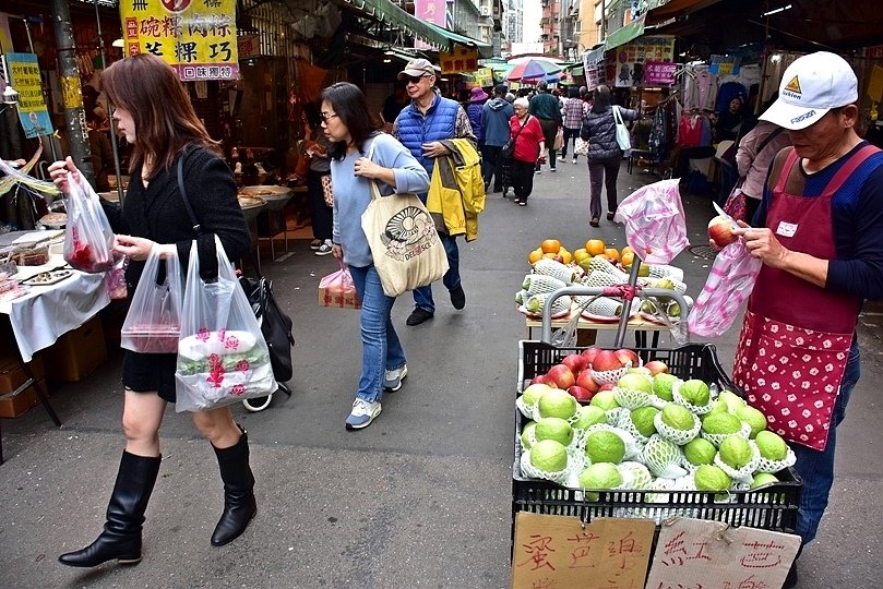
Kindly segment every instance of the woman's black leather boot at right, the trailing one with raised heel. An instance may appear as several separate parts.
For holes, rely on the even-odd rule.
[[[249,521],[258,513],[258,503],[254,501],[254,477],[249,467],[248,432],[242,430],[236,445],[223,449],[215,448],[215,455],[220,467],[220,480],[224,481],[224,513],[220,514],[212,534],[212,545],[223,546],[246,531]]]

